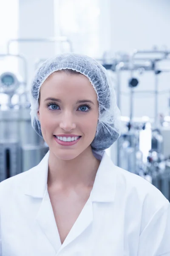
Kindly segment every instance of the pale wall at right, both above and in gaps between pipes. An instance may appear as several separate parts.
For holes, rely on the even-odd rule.
[[[133,49],[151,49],[164,45],[170,49],[170,1],[168,0],[110,0],[111,51],[132,52]],[[170,65],[169,65],[170,66]],[[136,90],[153,90],[153,73],[139,77]],[[122,90],[128,93],[128,73],[123,73]],[[159,90],[170,89],[170,74],[159,75]],[[167,110],[168,93],[159,96],[159,112]],[[122,96],[122,115],[129,115],[128,96]],[[154,98],[150,93],[136,95],[135,116],[154,116]]]

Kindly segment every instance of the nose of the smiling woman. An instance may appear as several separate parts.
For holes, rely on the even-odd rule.
[[[71,131],[76,128],[76,124],[73,120],[73,115],[70,112],[65,112],[62,114],[62,119],[59,124],[59,127],[65,131]]]

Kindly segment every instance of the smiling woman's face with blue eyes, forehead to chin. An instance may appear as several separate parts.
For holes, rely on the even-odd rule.
[[[42,136],[56,157],[71,160],[91,147],[98,117],[97,95],[86,76],[57,71],[42,84],[38,118]],[[73,135],[81,137],[63,142],[63,137],[73,140]]]

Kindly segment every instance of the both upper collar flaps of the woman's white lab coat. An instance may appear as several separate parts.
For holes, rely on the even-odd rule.
[[[113,202],[116,193],[116,166],[105,151],[93,151],[96,158],[101,160],[94,186],[91,191],[92,202]],[[34,198],[44,198],[47,189],[49,151],[41,162],[32,168],[24,184],[25,195]]]

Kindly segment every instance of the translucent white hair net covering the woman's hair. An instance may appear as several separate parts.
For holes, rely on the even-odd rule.
[[[120,136],[120,111],[116,105],[115,91],[107,76],[107,70],[96,60],[86,55],[74,53],[57,55],[45,61],[37,70],[31,85],[30,114],[32,127],[42,137],[41,125],[37,117],[40,87],[48,76],[63,69],[76,70],[90,80],[99,102],[99,119],[91,147],[97,151],[109,148]]]

